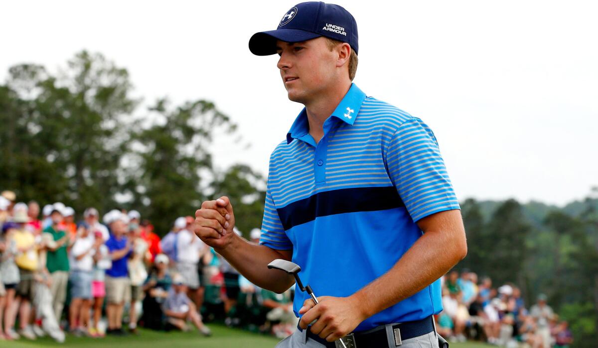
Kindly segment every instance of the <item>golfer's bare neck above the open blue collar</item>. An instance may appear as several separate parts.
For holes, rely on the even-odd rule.
[[[346,81],[333,84],[333,86],[324,93],[320,93],[314,100],[304,104],[309,122],[309,134],[312,135],[316,143],[324,136],[324,122],[351,88],[351,81],[347,78]]]

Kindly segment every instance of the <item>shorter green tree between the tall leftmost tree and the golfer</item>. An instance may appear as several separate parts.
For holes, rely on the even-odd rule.
[[[203,178],[212,172],[208,146],[215,128],[232,132],[236,126],[206,100],[169,109],[164,98],[149,111],[152,125],[133,135],[124,194],[132,197],[127,205],[142,207],[165,234],[176,217],[194,215],[206,198]]]

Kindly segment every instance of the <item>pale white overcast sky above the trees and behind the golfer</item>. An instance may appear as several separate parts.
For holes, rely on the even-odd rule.
[[[460,199],[565,204],[598,185],[595,1],[344,1],[359,29],[355,83],[434,130]],[[206,98],[249,149],[216,141],[220,168],[268,159],[302,109],[277,56],[249,37],[276,29],[288,1],[10,1],[0,5],[0,80],[77,51],[126,67],[147,103]],[[1,112],[1,110],[0,110]],[[139,110],[141,112],[141,110]]]

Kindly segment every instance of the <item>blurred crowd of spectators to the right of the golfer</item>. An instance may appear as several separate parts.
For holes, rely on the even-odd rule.
[[[498,288],[492,279],[469,270],[452,270],[442,279],[443,312],[437,316],[437,330],[453,342],[487,341],[501,347],[569,347],[573,338],[568,322],[538,295],[527,307],[514,284]]]

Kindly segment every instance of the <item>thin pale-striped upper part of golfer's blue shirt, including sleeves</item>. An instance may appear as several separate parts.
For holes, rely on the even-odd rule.
[[[285,230],[322,211],[337,211],[335,204],[340,205],[338,211],[347,205],[338,200],[329,201],[332,207],[313,205],[322,197],[334,196],[334,191],[393,187],[413,221],[459,209],[437,140],[422,120],[367,97],[352,125],[334,121],[337,127],[326,135],[324,184],[315,183],[315,147],[305,141],[284,140],[271,154],[262,244],[291,249]],[[293,211],[300,213],[294,217],[289,213]]]

